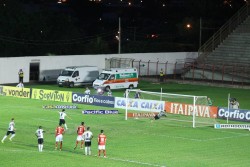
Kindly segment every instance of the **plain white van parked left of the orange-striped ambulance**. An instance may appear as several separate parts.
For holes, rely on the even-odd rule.
[[[92,84],[98,75],[99,70],[96,66],[66,67],[57,78],[57,84],[69,87]]]

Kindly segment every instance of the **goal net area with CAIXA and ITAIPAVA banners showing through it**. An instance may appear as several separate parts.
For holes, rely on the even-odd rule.
[[[192,96],[162,92],[127,89],[125,95],[125,120],[128,117],[153,116],[160,111],[167,113],[169,121],[182,126],[213,126],[217,117],[216,107],[208,105],[207,96]],[[151,115],[150,115],[151,113]],[[153,114],[152,114],[153,113]]]

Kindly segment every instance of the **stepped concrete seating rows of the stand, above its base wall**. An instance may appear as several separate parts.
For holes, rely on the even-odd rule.
[[[213,52],[207,64],[250,66],[250,17],[240,24]]]

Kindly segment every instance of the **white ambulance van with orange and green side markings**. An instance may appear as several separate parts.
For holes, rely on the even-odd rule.
[[[93,82],[93,87],[109,89],[136,88],[138,85],[138,72],[136,68],[111,68],[104,70],[98,79]]]

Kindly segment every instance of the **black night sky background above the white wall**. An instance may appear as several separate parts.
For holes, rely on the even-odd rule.
[[[113,53],[116,52],[119,17],[125,52],[193,51],[197,50],[200,18],[206,27],[203,30],[204,42],[246,4],[245,0],[58,1],[0,0],[0,17],[4,18],[0,18],[0,42],[5,45],[0,47],[2,54]],[[17,2],[20,5],[16,5]],[[190,29],[186,24],[191,25]],[[97,36],[99,42],[96,41]],[[63,48],[60,52],[53,50],[55,41],[60,41]],[[155,50],[148,50],[145,42],[153,45],[151,48]],[[76,48],[78,43],[95,45],[93,50],[96,52],[89,50],[90,47],[81,50],[79,48],[83,47],[79,45]],[[19,51],[10,52],[13,48],[8,48],[9,44],[18,47]],[[51,44],[52,49],[47,46],[44,47],[46,51],[42,49],[45,44]],[[144,50],[136,50],[142,44],[145,45]],[[98,50],[100,47],[103,49]]]

